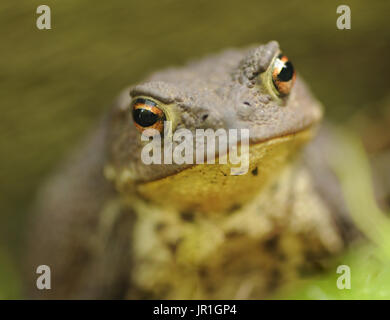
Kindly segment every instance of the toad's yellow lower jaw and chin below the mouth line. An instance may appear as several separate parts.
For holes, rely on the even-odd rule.
[[[136,189],[151,202],[179,210],[226,211],[258,194],[312,136],[306,129],[250,145],[246,174],[231,175],[229,163],[198,164]]]

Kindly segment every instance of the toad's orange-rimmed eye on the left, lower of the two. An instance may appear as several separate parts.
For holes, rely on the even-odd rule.
[[[157,106],[156,102],[149,99],[138,98],[134,100],[133,119],[140,132],[146,129],[162,132],[164,129],[164,111]]]

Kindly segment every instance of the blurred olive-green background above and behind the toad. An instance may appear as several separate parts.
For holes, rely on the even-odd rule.
[[[52,29],[38,30],[49,5]],[[347,4],[352,29],[336,28]],[[0,298],[18,268],[35,193],[125,86],[227,47],[278,40],[328,118],[385,108],[390,2],[18,0],[0,3]]]

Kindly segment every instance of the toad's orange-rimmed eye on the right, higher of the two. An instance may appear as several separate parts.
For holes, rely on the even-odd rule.
[[[272,69],[272,82],[281,97],[287,96],[294,85],[294,67],[283,54],[275,59]]]

